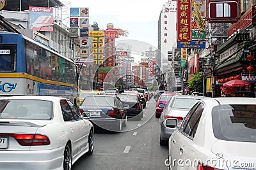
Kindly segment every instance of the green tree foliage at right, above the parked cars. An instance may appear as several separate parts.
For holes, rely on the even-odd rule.
[[[196,72],[195,76],[188,81],[189,89],[195,90],[195,92],[203,92],[203,74],[202,72]]]

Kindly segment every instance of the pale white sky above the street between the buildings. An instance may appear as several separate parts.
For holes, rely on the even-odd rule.
[[[113,23],[115,28],[129,32],[127,37],[116,41],[132,39],[157,47],[157,22],[163,4],[168,0],[60,1],[68,8],[89,8],[90,25],[97,22],[100,29],[106,29],[108,23]]]

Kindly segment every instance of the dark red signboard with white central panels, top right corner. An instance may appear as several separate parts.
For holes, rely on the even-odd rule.
[[[206,0],[206,18],[208,22],[237,22],[240,18],[240,0]]]

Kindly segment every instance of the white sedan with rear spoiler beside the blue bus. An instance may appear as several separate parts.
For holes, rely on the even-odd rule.
[[[0,169],[71,169],[93,152],[94,129],[68,99],[0,99]]]

